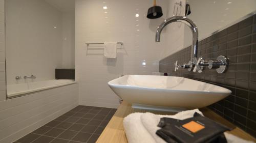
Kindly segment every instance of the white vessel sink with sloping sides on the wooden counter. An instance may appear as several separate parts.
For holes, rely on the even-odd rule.
[[[165,111],[205,107],[231,93],[214,84],[175,76],[125,75],[108,84],[135,108]]]

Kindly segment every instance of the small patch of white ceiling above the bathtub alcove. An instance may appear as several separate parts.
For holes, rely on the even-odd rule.
[[[75,0],[45,0],[45,1],[62,12],[75,10]]]

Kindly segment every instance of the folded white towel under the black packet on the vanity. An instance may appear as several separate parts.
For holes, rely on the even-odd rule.
[[[198,109],[195,110],[187,110],[177,113],[173,116],[163,116],[163,115],[155,115],[153,113],[131,113],[123,120],[123,126],[125,130],[125,134],[129,143],[140,143],[140,142],[149,142],[149,143],[162,143],[165,142],[161,137],[156,135],[156,131],[160,129],[157,127],[159,121],[163,117],[167,118],[175,118],[184,120],[187,118],[193,117],[194,113],[198,112],[201,115]],[[224,133],[228,143],[241,143],[247,142],[252,143],[252,141],[247,141],[237,136]]]

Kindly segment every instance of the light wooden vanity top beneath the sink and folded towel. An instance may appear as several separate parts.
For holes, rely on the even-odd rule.
[[[203,112],[204,116],[210,118],[216,122],[222,123],[227,127],[234,128],[229,133],[244,138],[246,140],[252,140],[256,142],[256,139],[241,130],[240,128],[234,126],[227,120],[223,119],[221,116],[217,115],[217,113],[211,111],[208,108],[201,108],[200,111]],[[128,142],[125,136],[124,128],[123,128],[123,118],[133,112],[152,112],[160,115],[169,115],[168,112],[160,112],[160,111],[148,111],[142,109],[133,109],[131,104],[123,101],[122,104],[118,107],[115,115],[110,120],[109,124],[105,127],[101,135],[99,136],[97,143],[125,143]]]

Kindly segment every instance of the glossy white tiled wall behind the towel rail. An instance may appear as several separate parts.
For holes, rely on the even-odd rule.
[[[167,56],[163,50],[175,50],[175,45],[167,47],[166,41],[169,39],[164,36],[166,29],[161,35],[161,42],[155,43],[157,26],[164,21],[168,12],[173,11],[173,8],[168,8],[173,5],[171,0],[157,2],[164,15],[158,19],[147,19],[147,9],[152,6],[152,1],[76,0],[75,61],[76,80],[79,81],[79,104],[117,107],[118,98],[108,87],[108,81],[121,74],[158,72],[159,60]],[[108,9],[103,9],[103,6]],[[136,17],[136,14],[139,16]],[[183,37],[180,38],[183,40]],[[87,49],[85,44],[108,41],[124,43],[117,50],[117,59],[105,59],[103,50]],[[176,41],[177,39],[173,40]],[[102,47],[103,45],[89,46]]]

